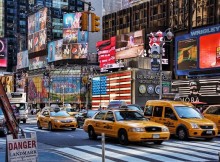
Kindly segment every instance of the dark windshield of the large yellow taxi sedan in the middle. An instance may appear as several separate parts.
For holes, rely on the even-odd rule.
[[[146,120],[146,118],[137,111],[116,111],[116,120]]]

